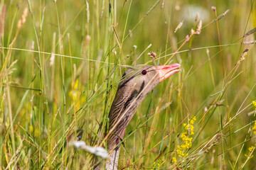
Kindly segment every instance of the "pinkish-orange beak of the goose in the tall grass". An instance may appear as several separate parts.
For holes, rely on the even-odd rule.
[[[171,65],[156,66],[156,72],[159,73],[159,82],[164,81],[165,79],[171,77],[171,75],[179,72],[179,67],[181,67],[181,65],[177,63]]]

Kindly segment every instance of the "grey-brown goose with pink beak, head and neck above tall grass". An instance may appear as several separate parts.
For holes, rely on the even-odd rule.
[[[156,67],[139,65],[124,72],[109,113],[109,132],[105,137],[107,139],[107,152],[109,152],[106,170],[117,169],[120,139],[146,95],[161,81],[178,72],[179,67],[181,67],[180,64]],[[95,167],[95,169],[100,169],[100,166]]]

